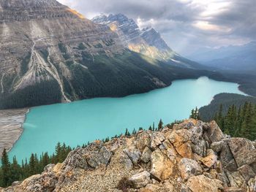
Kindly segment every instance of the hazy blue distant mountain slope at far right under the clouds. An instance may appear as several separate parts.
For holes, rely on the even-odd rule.
[[[194,61],[214,66],[223,70],[256,72],[256,42],[246,45],[220,47],[218,49],[199,50],[192,55],[187,55]]]

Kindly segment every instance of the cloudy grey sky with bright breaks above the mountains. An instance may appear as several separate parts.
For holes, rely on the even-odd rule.
[[[59,0],[86,18],[123,13],[182,55],[256,40],[256,0]]]

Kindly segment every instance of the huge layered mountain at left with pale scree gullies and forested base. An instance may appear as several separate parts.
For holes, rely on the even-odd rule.
[[[0,0],[0,39],[0,109],[126,96],[200,76],[128,50],[108,26],[56,0]]]

